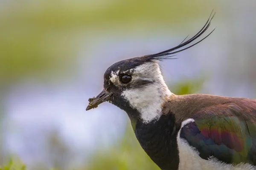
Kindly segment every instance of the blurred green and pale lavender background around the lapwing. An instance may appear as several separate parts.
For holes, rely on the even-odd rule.
[[[158,170],[125,112],[86,112],[87,100],[111,64],[179,44],[212,9],[216,30],[161,63],[166,82],[176,94],[255,98],[255,0],[0,0],[0,165]]]

